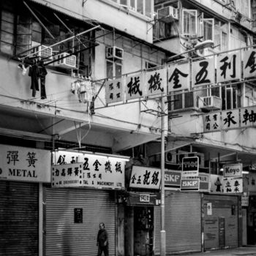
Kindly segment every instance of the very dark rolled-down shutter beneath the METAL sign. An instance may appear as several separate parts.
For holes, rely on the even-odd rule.
[[[38,255],[38,184],[0,181],[0,255]]]

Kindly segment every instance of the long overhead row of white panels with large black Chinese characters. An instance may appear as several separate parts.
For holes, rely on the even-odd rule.
[[[181,61],[154,71],[123,75],[105,82],[105,100],[107,104],[123,102],[230,80],[250,79],[256,75],[255,54],[255,50],[244,50],[242,55],[241,52],[222,53],[209,59]]]

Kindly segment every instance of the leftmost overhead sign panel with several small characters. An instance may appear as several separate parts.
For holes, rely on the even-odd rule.
[[[123,101],[123,82],[121,78],[116,80],[108,80],[105,83],[105,98],[106,103],[121,102]]]

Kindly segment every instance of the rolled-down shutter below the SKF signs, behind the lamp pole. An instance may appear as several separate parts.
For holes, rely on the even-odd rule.
[[[161,208],[155,208],[155,252],[160,250]],[[201,195],[165,192],[166,253],[201,252]]]

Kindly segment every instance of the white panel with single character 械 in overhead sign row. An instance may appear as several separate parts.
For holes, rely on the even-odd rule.
[[[144,97],[144,81],[143,81],[143,73],[139,75],[129,75],[126,77],[126,99],[138,99],[140,97]]]

